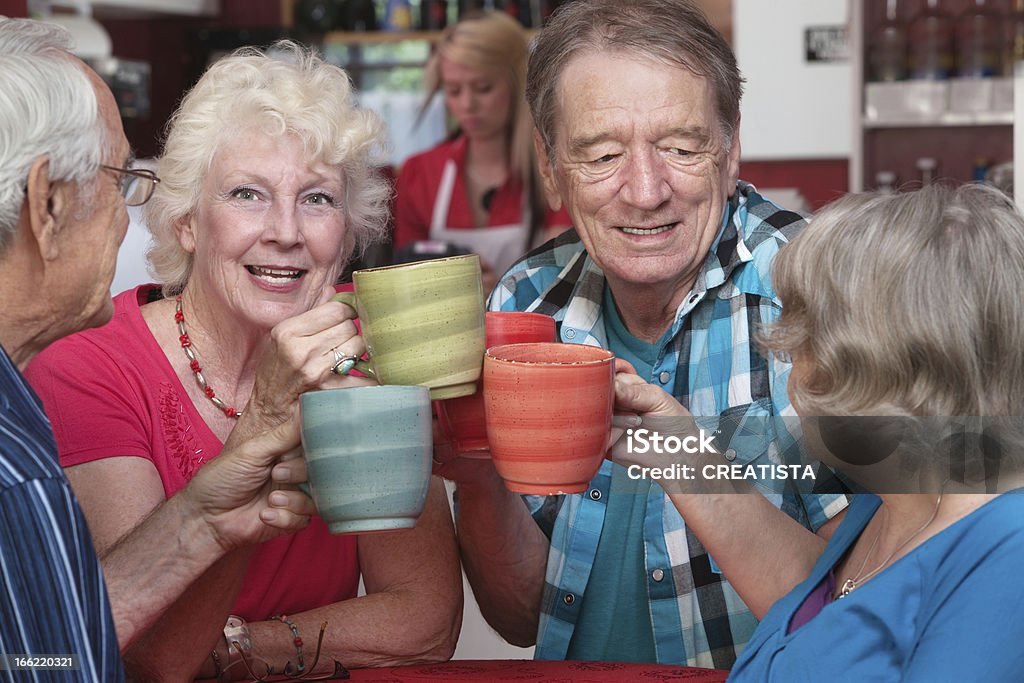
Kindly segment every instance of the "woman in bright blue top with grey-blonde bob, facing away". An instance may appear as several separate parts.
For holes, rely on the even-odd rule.
[[[850,195],[772,281],[783,309],[762,342],[793,358],[808,451],[865,493],[729,680],[1020,680],[1024,216],[978,184]],[[620,404],[644,413],[656,396],[636,384]],[[997,483],[975,474],[1000,451]]]

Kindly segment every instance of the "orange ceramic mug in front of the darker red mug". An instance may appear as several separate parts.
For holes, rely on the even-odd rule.
[[[584,344],[493,346],[483,407],[495,468],[510,490],[578,494],[604,459],[614,355]]]

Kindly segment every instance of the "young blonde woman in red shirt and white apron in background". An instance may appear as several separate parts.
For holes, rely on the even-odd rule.
[[[398,173],[394,246],[437,240],[480,256],[496,279],[531,244],[569,226],[544,197],[525,100],[528,42],[506,12],[471,13],[449,27],[427,66],[457,125],[451,139]],[[488,288],[489,289],[489,288]]]

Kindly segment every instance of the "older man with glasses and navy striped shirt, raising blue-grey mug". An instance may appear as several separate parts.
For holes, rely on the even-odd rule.
[[[313,507],[295,490],[270,494],[305,476],[288,422],[226,444],[97,559],[22,371],[53,341],[111,319],[125,207],[160,179],[130,167],[111,91],[69,47],[62,29],[0,17],[0,670],[118,681],[120,651],[193,581],[236,549],[305,526]]]

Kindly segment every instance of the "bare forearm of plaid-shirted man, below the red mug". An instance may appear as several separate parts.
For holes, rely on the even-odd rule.
[[[480,612],[514,645],[537,640],[548,539],[522,499],[497,476],[459,485],[456,516],[463,566]]]

